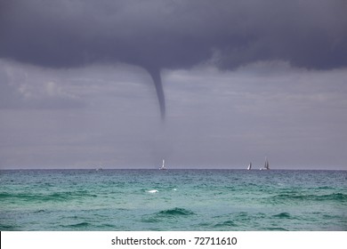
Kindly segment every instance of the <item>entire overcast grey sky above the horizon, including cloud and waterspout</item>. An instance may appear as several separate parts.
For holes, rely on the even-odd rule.
[[[0,169],[347,169],[344,0],[0,0]]]

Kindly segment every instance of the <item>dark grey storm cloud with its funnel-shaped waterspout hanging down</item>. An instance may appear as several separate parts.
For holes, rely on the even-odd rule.
[[[0,2],[0,58],[43,67],[125,62],[149,71],[162,115],[161,68],[257,60],[347,65],[344,0]]]

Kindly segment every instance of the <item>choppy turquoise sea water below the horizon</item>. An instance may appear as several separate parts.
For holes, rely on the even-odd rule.
[[[0,230],[347,230],[347,171],[2,170]]]

